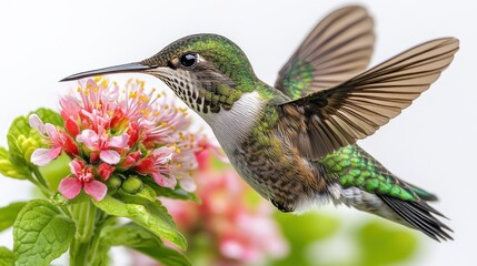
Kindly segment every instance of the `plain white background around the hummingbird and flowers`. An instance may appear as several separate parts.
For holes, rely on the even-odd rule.
[[[360,144],[403,178],[436,192],[455,242],[424,241],[418,265],[469,265],[475,257],[477,7],[474,1],[358,1],[376,20],[372,64],[429,39],[454,35],[461,50],[401,115]],[[0,1],[0,145],[10,122],[56,109],[85,70],[148,58],[186,34],[228,37],[272,84],[281,64],[329,11],[348,1]],[[165,88],[157,80],[148,84]],[[0,205],[28,198],[26,182],[0,180]],[[340,208],[346,217],[365,214]],[[0,217],[1,218],[1,217]],[[319,226],[319,225],[317,225]],[[11,245],[8,234],[0,245]]]

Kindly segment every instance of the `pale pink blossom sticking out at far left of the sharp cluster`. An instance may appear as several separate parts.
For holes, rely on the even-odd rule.
[[[36,129],[41,136],[50,142],[49,149],[37,149],[31,154],[30,161],[36,165],[47,165],[51,160],[58,157],[62,151],[68,155],[74,156],[78,154],[78,147],[70,136],[64,132],[58,131],[57,127],[50,123],[43,124],[37,114],[31,114],[29,117],[30,126]]]

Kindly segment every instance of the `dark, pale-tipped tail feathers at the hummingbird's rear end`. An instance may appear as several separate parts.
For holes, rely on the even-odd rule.
[[[401,201],[388,195],[378,195],[392,211],[416,229],[419,229],[430,238],[440,242],[453,241],[454,238],[446,232],[453,232],[447,225],[437,219],[433,214],[441,215],[424,201],[410,202]]]

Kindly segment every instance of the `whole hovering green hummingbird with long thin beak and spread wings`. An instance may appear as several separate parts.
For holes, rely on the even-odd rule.
[[[453,239],[438,218],[445,216],[428,204],[436,195],[394,175],[356,142],[426,91],[459,41],[428,41],[366,70],[374,41],[372,18],[350,6],[311,30],[274,86],[257,78],[236,43],[211,33],[187,35],[139,62],[61,81],[151,74],[210,125],[238,174],[279,211],[344,204],[438,242]]]

